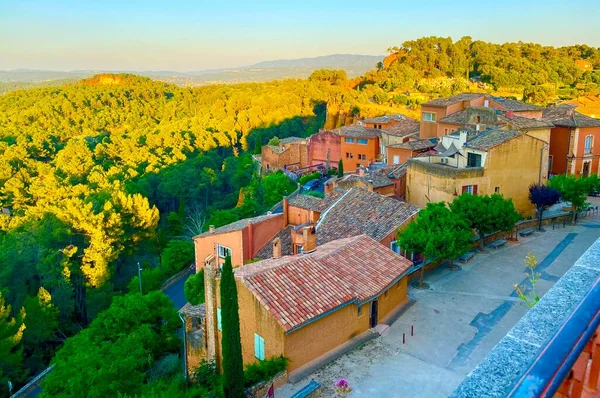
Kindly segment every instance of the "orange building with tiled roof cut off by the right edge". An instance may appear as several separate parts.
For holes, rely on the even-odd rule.
[[[552,123],[550,173],[600,174],[600,119],[581,114],[571,105],[546,108],[543,120]]]

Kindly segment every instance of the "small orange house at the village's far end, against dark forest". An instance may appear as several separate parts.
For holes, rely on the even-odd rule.
[[[261,166],[266,171],[288,170],[309,166],[308,139],[289,137],[279,140],[279,145],[264,145],[261,149]]]

